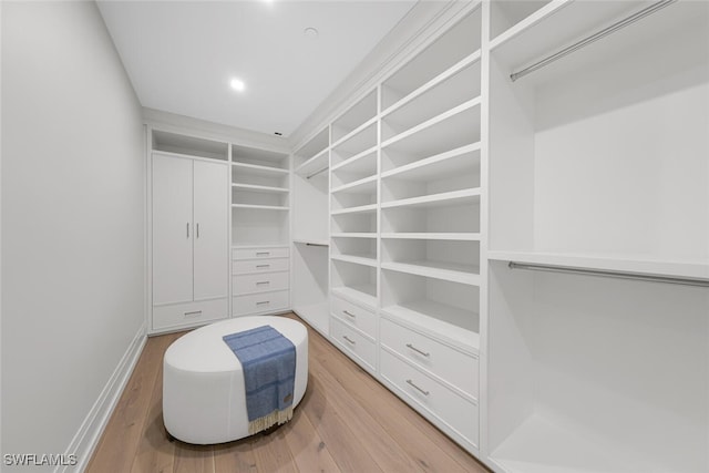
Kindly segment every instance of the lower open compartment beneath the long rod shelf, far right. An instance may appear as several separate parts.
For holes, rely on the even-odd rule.
[[[532,473],[709,470],[708,288],[492,261],[489,304],[496,464]]]

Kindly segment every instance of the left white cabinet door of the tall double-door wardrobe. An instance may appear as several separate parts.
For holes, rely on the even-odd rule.
[[[186,302],[193,299],[193,230],[192,160],[154,154],[154,306],[169,302]]]

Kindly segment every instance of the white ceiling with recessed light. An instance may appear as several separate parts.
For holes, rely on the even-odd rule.
[[[99,9],[143,106],[288,136],[414,3],[100,0]],[[229,88],[233,76],[245,92]]]

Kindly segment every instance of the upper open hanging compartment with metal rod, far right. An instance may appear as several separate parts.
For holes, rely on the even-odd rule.
[[[494,44],[496,257],[660,276],[709,270],[709,4],[677,1],[627,23],[655,3],[569,2]]]

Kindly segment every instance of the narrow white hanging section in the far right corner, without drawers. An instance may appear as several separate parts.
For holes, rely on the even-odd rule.
[[[329,247],[329,127],[292,156],[292,310],[327,336]]]

